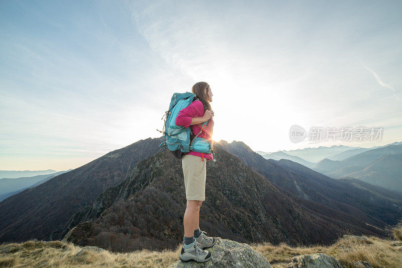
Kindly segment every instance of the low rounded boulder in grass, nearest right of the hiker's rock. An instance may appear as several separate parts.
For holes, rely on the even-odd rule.
[[[287,264],[288,268],[343,268],[339,260],[324,253],[298,255]]]

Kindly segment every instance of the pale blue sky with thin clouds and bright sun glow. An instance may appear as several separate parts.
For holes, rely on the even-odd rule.
[[[402,141],[400,1],[1,1],[0,169],[66,170],[159,137],[173,93],[214,94],[215,141]],[[383,128],[292,142],[293,125]]]

